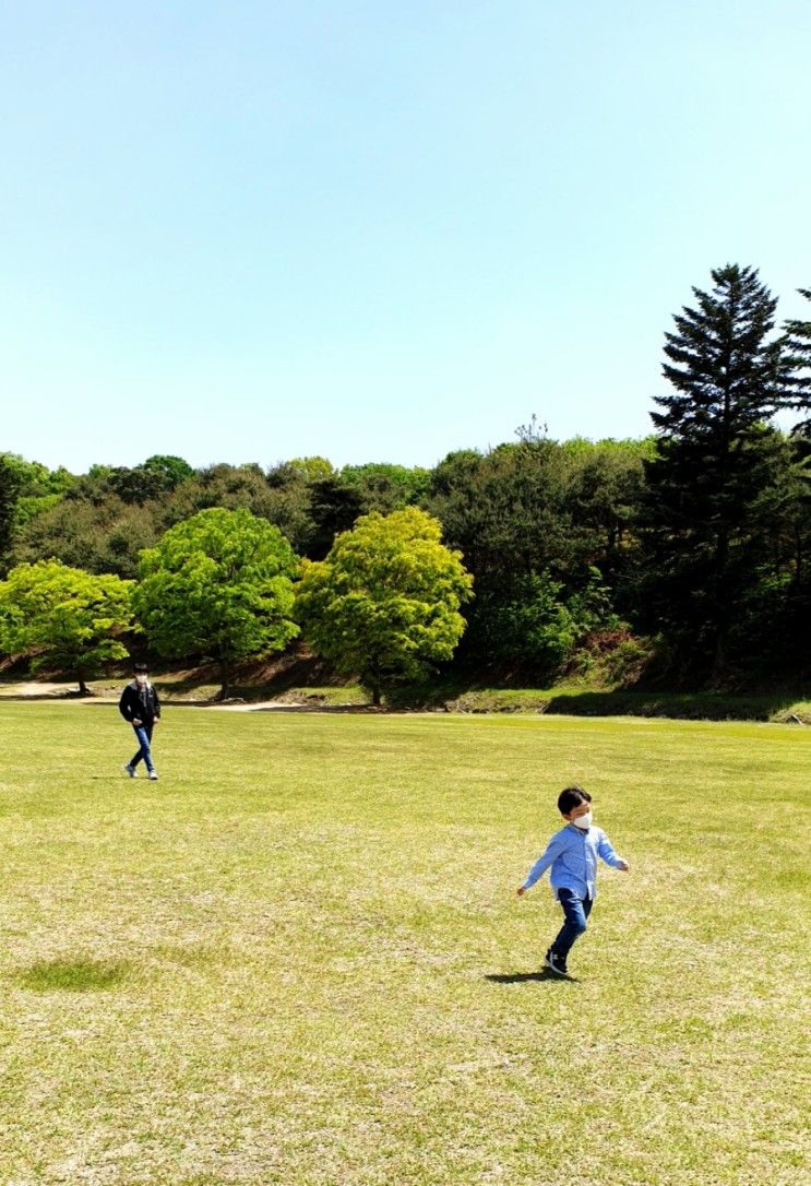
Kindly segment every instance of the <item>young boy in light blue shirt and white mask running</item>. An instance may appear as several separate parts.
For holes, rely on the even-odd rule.
[[[547,951],[545,965],[556,976],[567,976],[566,957],[571,944],[586,930],[596,894],[596,859],[614,869],[628,872],[628,862],[618,856],[601,828],[592,823],[592,796],[580,786],[567,786],[557,797],[557,810],[566,827],[556,831],[518,888],[521,898],[551,866],[549,880],[563,907],[564,923]]]

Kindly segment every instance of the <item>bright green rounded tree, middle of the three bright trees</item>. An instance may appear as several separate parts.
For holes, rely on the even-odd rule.
[[[298,560],[281,531],[244,509],[212,508],[177,523],[141,553],[135,614],[160,655],[207,653],[221,696],[235,662],[283,650]]]

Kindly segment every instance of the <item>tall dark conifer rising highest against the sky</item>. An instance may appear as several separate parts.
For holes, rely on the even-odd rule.
[[[726,644],[752,579],[755,508],[775,478],[773,413],[791,393],[791,365],[770,338],[777,300],[756,270],[727,264],[697,307],[675,317],[663,366],[675,394],[651,413],[657,455],[646,463],[650,625],[683,668],[724,674]]]

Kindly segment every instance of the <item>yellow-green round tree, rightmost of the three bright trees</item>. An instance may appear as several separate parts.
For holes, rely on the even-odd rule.
[[[326,560],[305,561],[295,614],[312,646],[339,670],[359,672],[379,704],[392,684],[451,658],[472,584],[436,519],[416,508],[372,511],[338,536]]]

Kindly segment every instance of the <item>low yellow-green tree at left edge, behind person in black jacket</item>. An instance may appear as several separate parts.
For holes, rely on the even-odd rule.
[[[0,646],[76,674],[79,691],[104,664],[126,658],[119,636],[130,626],[130,581],[91,576],[58,560],[19,565],[0,581]]]

